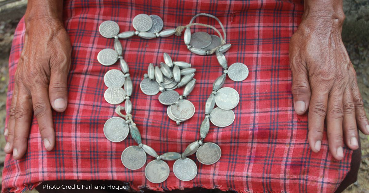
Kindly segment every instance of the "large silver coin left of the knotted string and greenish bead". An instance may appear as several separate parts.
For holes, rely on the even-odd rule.
[[[128,125],[120,117],[112,117],[104,124],[104,135],[111,142],[123,141],[129,133]]]

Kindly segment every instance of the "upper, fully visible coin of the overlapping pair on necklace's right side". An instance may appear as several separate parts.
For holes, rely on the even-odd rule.
[[[231,87],[223,87],[215,94],[215,104],[221,109],[231,110],[236,107],[239,102],[239,94],[237,90]]]

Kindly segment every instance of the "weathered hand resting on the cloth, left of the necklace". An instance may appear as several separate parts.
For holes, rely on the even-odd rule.
[[[28,8],[27,8],[28,9]],[[28,11],[28,10],[27,10]],[[18,160],[27,150],[32,112],[46,150],[55,145],[52,119],[66,109],[71,44],[61,17],[25,15],[24,47],[15,72],[4,151]]]

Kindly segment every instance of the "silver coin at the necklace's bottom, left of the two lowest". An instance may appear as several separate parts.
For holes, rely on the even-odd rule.
[[[152,183],[162,183],[169,176],[169,166],[163,160],[150,161],[145,168],[146,179]]]

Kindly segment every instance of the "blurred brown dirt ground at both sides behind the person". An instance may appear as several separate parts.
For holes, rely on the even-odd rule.
[[[6,92],[8,83],[8,56],[11,40],[17,22],[23,15],[25,4],[14,10],[4,11],[4,1],[0,0],[0,181],[4,166],[3,136],[6,117]],[[11,0],[14,1],[14,0]],[[24,0],[20,0],[24,1]],[[365,103],[365,110],[369,117],[369,1],[345,0],[346,21],[342,36],[351,61],[356,69],[358,84]],[[6,15],[6,16],[5,16]],[[369,193],[369,137],[360,135],[362,145],[362,162],[358,181],[349,186],[346,193]],[[0,185],[1,186],[1,185]],[[37,192],[35,190],[32,193]]]

